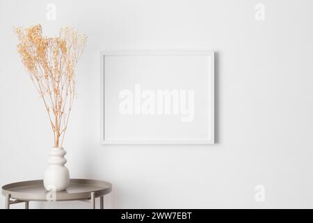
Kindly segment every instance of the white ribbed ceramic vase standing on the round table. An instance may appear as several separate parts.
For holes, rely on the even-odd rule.
[[[62,191],[70,184],[70,172],[65,167],[66,151],[63,147],[51,148],[49,151],[49,167],[45,171],[44,185],[46,190]]]

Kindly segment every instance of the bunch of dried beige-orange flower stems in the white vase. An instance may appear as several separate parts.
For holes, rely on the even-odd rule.
[[[47,109],[54,147],[62,147],[75,97],[74,68],[87,37],[70,27],[61,29],[57,37],[45,37],[40,24],[14,31],[17,51]]]

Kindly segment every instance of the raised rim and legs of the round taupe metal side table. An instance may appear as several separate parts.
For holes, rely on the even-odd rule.
[[[93,189],[93,186],[95,186],[96,189],[71,193],[56,192],[55,201],[87,201],[90,202],[91,209],[95,209],[95,200],[99,197],[99,208],[104,209],[104,195],[112,191],[111,183],[102,180],[70,179],[70,185],[80,184],[88,185],[90,189]],[[48,201],[45,197],[46,194],[19,192],[19,190],[16,190],[17,188],[31,187],[31,185],[43,187],[43,180],[30,180],[4,185],[2,187],[2,194],[6,196],[5,208],[10,209],[10,205],[15,203],[25,203],[24,208],[29,209],[30,201]]]

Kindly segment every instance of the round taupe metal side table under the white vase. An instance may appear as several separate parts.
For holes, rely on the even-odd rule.
[[[70,185],[61,192],[47,191],[43,180],[29,180],[10,183],[2,187],[6,196],[6,209],[11,204],[25,203],[29,209],[29,201],[91,201],[95,209],[95,199],[99,197],[100,209],[103,209],[104,195],[112,191],[112,184],[102,180],[70,179]]]

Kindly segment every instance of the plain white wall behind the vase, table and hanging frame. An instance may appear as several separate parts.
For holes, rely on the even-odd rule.
[[[47,3],[56,4],[56,21],[46,20]],[[257,3],[266,6],[263,22]],[[106,208],[313,208],[312,10],[310,0],[0,0],[0,185],[42,178],[52,145],[13,25],[41,23],[47,35],[70,25],[88,45],[77,66],[67,167],[74,178],[113,183]],[[104,49],[216,51],[217,143],[100,145]],[[263,203],[256,185],[266,188]],[[31,203],[47,207],[88,203]]]

